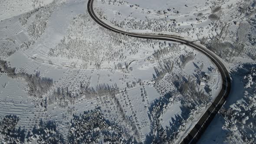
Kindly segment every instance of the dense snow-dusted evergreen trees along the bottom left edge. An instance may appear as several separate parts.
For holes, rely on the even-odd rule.
[[[128,133],[128,129],[104,118],[100,108],[85,111],[80,115],[73,115],[67,141],[60,133],[53,121],[40,121],[33,130],[16,129],[20,118],[16,115],[6,115],[0,121],[0,139],[5,144],[23,144],[36,142],[37,144],[88,144],[101,140],[107,143],[137,144],[135,137]]]

